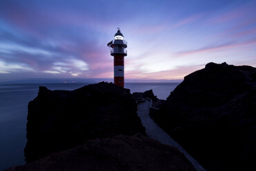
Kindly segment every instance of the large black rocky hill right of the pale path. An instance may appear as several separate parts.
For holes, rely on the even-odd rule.
[[[208,63],[151,117],[207,170],[256,170],[256,68]]]

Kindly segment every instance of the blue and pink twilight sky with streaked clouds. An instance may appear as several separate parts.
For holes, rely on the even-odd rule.
[[[183,79],[215,62],[256,67],[256,1],[1,0],[0,82],[111,79],[107,43],[128,41],[125,78]]]

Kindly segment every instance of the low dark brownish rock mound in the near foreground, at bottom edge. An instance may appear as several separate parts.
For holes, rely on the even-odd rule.
[[[53,170],[195,170],[176,148],[141,135],[87,141],[8,171]]]

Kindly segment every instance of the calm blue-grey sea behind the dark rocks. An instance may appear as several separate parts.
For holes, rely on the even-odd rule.
[[[24,165],[28,102],[37,97],[39,86],[50,90],[75,90],[90,83],[12,83],[0,84],[0,170]],[[153,90],[166,99],[179,83],[126,83],[130,92]]]

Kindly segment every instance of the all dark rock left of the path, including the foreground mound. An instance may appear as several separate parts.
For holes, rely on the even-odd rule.
[[[27,139],[27,164],[8,170],[195,170],[177,148],[146,137],[130,90],[112,83],[40,87]]]

